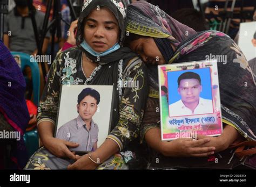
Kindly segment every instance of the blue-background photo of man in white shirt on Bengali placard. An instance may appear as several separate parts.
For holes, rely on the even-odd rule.
[[[167,72],[169,117],[213,113],[210,68]]]

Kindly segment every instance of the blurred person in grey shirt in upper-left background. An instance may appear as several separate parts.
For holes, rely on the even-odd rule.
[[[15,0],[15,8],[8,13],[4,20],[4,44],[10,51],[37,54],[37,45],[31,17],[29,16],[28,1]],[[43,27],[44,14],[36,11],[35,19],[38,31]],[[43,54],[48,47],[50,35],[44,39]]]

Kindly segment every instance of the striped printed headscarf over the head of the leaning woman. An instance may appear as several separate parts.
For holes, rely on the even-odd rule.
[[[147,2],[128,5],[126,30],[146,37],[168,38],[178,46],[197,32]]]

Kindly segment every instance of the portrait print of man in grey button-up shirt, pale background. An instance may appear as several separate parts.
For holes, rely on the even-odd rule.
[[[55,137],[79,143],[76,153],[95,151],[110,132],[112,85],[62,85]]]

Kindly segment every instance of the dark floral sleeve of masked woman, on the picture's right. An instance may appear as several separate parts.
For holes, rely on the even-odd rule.
[[[125,88],[119,105],[119,121],[107,138],[115,141],[122,150],[139,136],[140,126],[149,92],[147,70],[138,57],[131,60],[123,75],[123,80],[137,83],[137,88]]]

